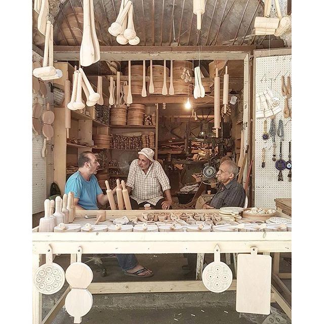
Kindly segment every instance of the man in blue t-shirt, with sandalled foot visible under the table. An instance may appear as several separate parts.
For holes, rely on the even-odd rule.
[[[74,205],[77,210],[97,210],[97,203],[108,203],[95,177],[100,164],[91,151],[82,152],[77,160],[78,171],[73,173],[65,184],[65,193],[73,191]],[[116,189],[113,189],[115,193]],[[127,275],[135,277],[151,277],[153,271],[140,265],[134,254],[116,254],[118,264]]]

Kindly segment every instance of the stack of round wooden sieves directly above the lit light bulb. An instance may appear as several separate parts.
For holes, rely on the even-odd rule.
[[[192,77],[191,82],[184,82],[181,78],[183,69],[189,70],[190,76]],[[194,74],[192,71],[192,62],[191,61],[173,61],[173,87],[175,95],[187,95],[193,94],[193,87],[189,87],[194,82]],[[188,92],[189,91],[189,92]]]

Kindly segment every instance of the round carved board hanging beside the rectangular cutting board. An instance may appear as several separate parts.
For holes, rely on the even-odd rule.
[[[232,284],[232,271],[226,263],[221,262],[221,253],[218,245],[214,249],[214,262],[205,267],[202,279],[205,287],[213,293],[222,293]]]

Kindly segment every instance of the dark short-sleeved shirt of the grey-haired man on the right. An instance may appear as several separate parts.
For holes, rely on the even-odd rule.
[[[244,188],[235,179],[226,185],[221,185],[215,193],[210,205],[216,209],[221,207],[244,207],[246,194]]]

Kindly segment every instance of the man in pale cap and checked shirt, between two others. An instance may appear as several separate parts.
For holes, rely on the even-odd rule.
[[[132,192],[132,209],[139,209],[145,204],[150,204],[154,209],[172,209],[169,178],[153,156],[154,151],[144,147],[138,152],[138,159],[131,163],[126,186],[128,192]]]

